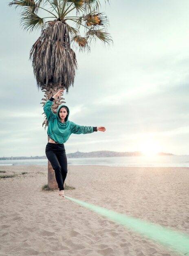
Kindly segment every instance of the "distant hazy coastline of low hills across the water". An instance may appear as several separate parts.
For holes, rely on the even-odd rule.
[[[140,151],[134,152],[116,152],[116,151],[93,151],[93,152],[75,152],[67,154],[68,158],[82,158],[82,157],[135,157],[144,156],[145,154]],[[174,155],[171,153],[157,153],[156,155]],[[0,157],[0,160],[16,160],[16,159],[46,159],[46,156],[31,156],[31,157]]]

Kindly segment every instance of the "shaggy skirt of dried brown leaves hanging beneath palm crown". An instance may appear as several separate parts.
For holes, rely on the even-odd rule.
[[[77,61],[70,48],[70,38],[66,23],[54,20],[31,48],[30,58],[38,88],[64,86],[68,92],[73,85]]]

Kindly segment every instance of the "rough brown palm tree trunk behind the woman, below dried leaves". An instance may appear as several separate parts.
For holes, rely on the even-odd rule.
[[[62,90],[62,88],[57,88],[57,87],[52,88],[53,86],[52,85],[50,85],[50,86],[51,86],[51,88],[48,88],[48,89],[46,88],[46,89],[42,90],[42,92],[44,92],[44,98],[42,99],[43,102],[41,102],[43,104],[43,106],[48,99],[51,99],[51,97],[56,94],[56,92],[58,92],[59,90]],[[62,98],[62,97],[59,97],[59,99],[54,100],[54,104],[51,107],[51,109],[55,114],[57,112],[57,108],[58,108],[59,104],[61,104],[61,103],[66,103],[66,101],[64,101],[64,98]],[[42,126],[44,126],[44,125],[45,125],[45,128],[46,128],[46,126],[48,126],[48,120],[46,119],[46,116],[45,116],[45,120],[44,120]],[[50,138],[48,137],[48,141],[49,141],[49,139]],[[53,167],[49,161],[48,161],[48,187],[51,189],[58,189],[58,185],[57,185],[57,182],[55,179],[55,171],[53,170]]]

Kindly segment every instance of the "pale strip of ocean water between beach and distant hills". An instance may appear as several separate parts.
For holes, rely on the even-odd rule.
[[[2,165],[44,165],[47,159],[0,160]],[[68,158],[68,165],[189,167],[189,155]]]

